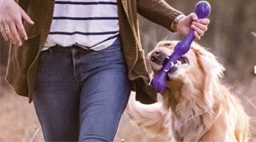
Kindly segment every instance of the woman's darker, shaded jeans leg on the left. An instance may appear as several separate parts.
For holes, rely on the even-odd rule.
[[[46,141],[78,141],[79,94],[70,48],[43,51],[33,102]]]

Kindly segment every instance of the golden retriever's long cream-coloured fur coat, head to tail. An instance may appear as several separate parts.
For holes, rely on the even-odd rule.
[[[161,41],[152,52],[169,56],[177,43]],[[131,97],[126,110],[131,122],[176,141],[247,141],[249,117],[220,82],[222,64],[194,42],[184,56],[189,64],[168,73],[166,89],[158,94],[157,103],[145,105]],[[151,60],[150,64],[153,77],[162,65]]]

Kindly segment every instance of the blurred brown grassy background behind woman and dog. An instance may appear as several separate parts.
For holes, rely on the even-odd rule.
[[[119,0],[118,0],[119,1]],[[149,1],[149,0],[148,0]],[[188,15],[194,12],[199,1],[169,1],[171,6]],[[207,47],[224,64],[224,83],[232,86],[251,117],[250,141],[256,141],[256,1],[224,0],[208,1],[212,6],[208,31],[199,43]],[[145,55],[161,40],[181,40],[165,28],[139,17],[140,37]],[[8,61],[8,43],[0,39],[0,141],[43,141],[34,105],[26,97],[18,96],[5,81]],[[149,68],[149,65],[148,65]],[[36,135],[34,135],[36,134]],[[130,125],[122,117],[116,141],[167,141],[168,138],[152,136],[141,128]]]

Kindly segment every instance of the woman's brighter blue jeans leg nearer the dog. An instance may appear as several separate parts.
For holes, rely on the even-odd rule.
[[[120,42],[88,53],[81,81],[79,141],[112,141],[130,95]],[[83,69],[83,65],[80,66]]]

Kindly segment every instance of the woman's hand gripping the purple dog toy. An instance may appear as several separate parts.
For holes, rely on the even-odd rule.
[[[194,30],[194,38],[200,40],[204,32],[207,31],[209,23],[209,19],[198,19],[196,14],[191,13],[178,21],[177,32],[180,32],[183,35],[188,35],[190,28],[192,28]]]

